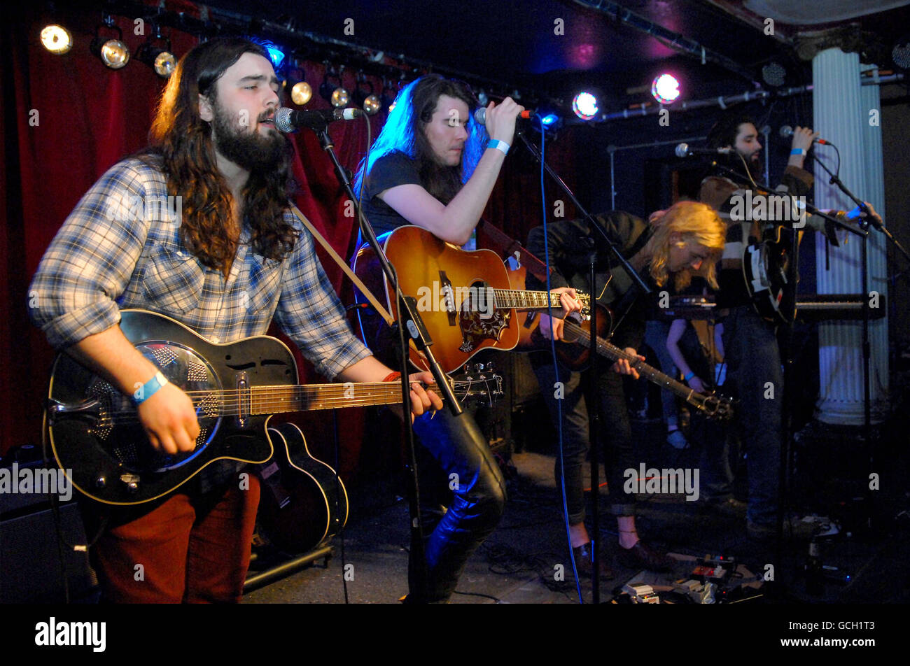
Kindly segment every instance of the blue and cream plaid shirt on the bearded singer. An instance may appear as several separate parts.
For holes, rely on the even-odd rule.
[[[137,159],[111,167],[66,218],[29,288],[29,314],[50,344],[69,347],[116,325],[120,308],[144,308],[216,343],[261,335],[274,318],[328,378],[370,355],[289,210],[301,233],[288,256],[254,254],[245,230],[227,280],[183,245],[180,218],[160,170]]]

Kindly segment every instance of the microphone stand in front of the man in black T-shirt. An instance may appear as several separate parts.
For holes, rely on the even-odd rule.
[[[543,131],[542,126],[540,126],[541,132]],[[619,260],[619,263],[622,267],[625,268],[626,272],[631,276],[633,284],[631,288],[635,288],[635,285],[638,285],[638,288],[642,290],[642,295],[650,294],[652,289],[645,284],[642,276],[638,274],[638,271],[633,270],[632,266],[622,256],[616,244],[612,242],[610,237],[607,236],[606,231],[597,224],[597,221],[589,213],[585,207],[581,206],[581,202],[575,197],[575,193],[572,192],[571,187],[566,185],[565,181],[548,165],[541,156],[541,151],[531,143],[531,140],[525,136],[525,132],[521,126],[516,125],[515,127],[515,136],[521,138],[521,143],[528,149],[528,152],[531,153],[531,156],[537,160],[537,163],[543,166],[546,172],[550,177],[556,182],[556,184],[561,188],[567,197],[569,197],[572,204],[574,204],[576,210],[581,212],[582,216],[588,221],[588,226],[591,229],[597,229],[600,233],[603,242],[613,253],[613,256]],[[593,244],[591,249],[591,263],[589,267],[589,279],[591,280],[591,334],[589,336],[589,356],[591,358],[591,368],[589,368],[589,386],[588,386],[588,441],[591,446],[591,522],[593,523],[593,531],[595,535],[595,540],[591,548],[591,601],[593,603],[600,603],[601,601],[601,576],[600,576],[600,556],[598,554],[598,545],[597,542],[601,540],[601,512],[600,512],[600,461],[598,453],[598,443],[597,443],[597,431],[598,423],[600,419],[600,404],[601,401],[598,396],[599,386],[599,369],[597,363],[597,283],[595,281],[595,270],[594,265],[597,259],[597,246]],[[611,269],[608,265],[607,267],[608,274],[611,273]],[[609,284],[609,279],[607,280]],[[611,331],[612,335],[612,331]],[[557,377],[559,373],[557,372]],[[565,486],[565,465],[562,465],[562,485]],[[618,489],[611,489],[612,492],[617,492]],[[569,544],[571,548],[571,543]]]

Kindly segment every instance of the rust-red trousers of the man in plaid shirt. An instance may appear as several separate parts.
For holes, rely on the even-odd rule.
[[[238,602],[259,504],[259,480],[248,479],[249,489],[232,485],[220,497],[177,493],[105,530],[91,549],[104,600]]]

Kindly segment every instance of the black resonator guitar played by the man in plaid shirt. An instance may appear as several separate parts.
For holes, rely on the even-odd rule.
[[[157,500],[220,459],[265,463],[275,450],[276,434],[289,463],[306,474],[307,465],[299,462],[306,451],[302,433],[299,441],[289,442],[297,439],[293,430],[268,428],[272,414],[401,402],[399,382],[298,385],[294,357],[276,338],[216,344],[164,315],[137,309],[120,315],[126,338],[193,400],[200,432],[191,451],[170,455],[152,449],[133,403],[60,354],[48,391],[50,444],[76,489],[100,502]],[[453,383],[453,389],[458,392],[460,386]],[[487,395],[482,388],[479,392]]]

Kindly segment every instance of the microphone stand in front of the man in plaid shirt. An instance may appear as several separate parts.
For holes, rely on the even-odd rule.
[[[386,278],[389,280],[389,284],[394,288],[395,297],[398,302],[397,326],[399,328],[399,345],[401,352],[401,409],[403,412],[402,416],[405,419],[404,430],[410,459],[408,485],[410,495],[411,561],[420,562],[418,570],[410,572],[408,582],[410,595],[413,595],[415,600],[423,603],[427,600],[430,575],[427,569],[427,557],[424,549],[423,522],[420,519],[420,484],[418,482],[417,457],[414,449],[414,429],[407,426],[407,421],[410,418],[410,382],[408,381],[408,370],[410,369],[408,367],[408,362],[410,357],[408,341],[405,339],[404,334],[405,329],[408,330],[410,338],[414,341],[416,347],[426,356],[428,364],[430,365],[430,372],[433,373],[433,378],[436,379],[437,387],[442,393],[442,397],[446,401],[446,404],[449,406],[452,416],[459,417],[464,409],[461,408],[459,400],[455,397],[455,394],[451,389],[448,376],[442,371],[439,362],[433,356],[432,351],[430,351],[430,346],[433,344],[433,341],[430,339],[430,334],[427,332],[427,329],[424,327],[423,321],[420,318],[420,313],[417,309],[417,300],[401,293],[395,268],[389,264],[389,260],[386,258],[385,254],[383,254],[382,248],[379,247],[379,241],[376,238],[376,232],[373,231],[373,227],[369,224],[369,220],[358,206],[358,197],[354,195],[354,189],[350,185],[348,172],[341,166],[339,158],[335,154],[335,144],[329,136],[329,124],[324,122],[319,128],[316,128],[313,131],[319,136],[319,144],[329,155],[332,164],[335,166],[335,175],[338,177],[339,183],[344,187],[350,201],[353,202],[355,210],[357,210],[360,233],[369,243],[369,247],[372,247],[373,251],[376,253],[376,257],[379,259],[379,266],[382,267],[382,272],[385,273]]]

